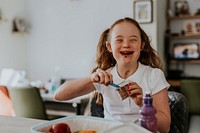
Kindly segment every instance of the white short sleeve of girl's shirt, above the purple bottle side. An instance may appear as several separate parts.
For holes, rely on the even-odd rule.
[[[165,75],[162,70],[158,68],[152,69],[150,72],[150,81],[149,81],[150,89],[152,95],[163,90],[168,89],[170,87],[169,83],[167,82]]]

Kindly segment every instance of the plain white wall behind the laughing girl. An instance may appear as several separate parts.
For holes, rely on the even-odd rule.
[[[4,8],[11,9],[9,3],[11,1],[4,1],[7,6]],[[5,40],[0,40],[0,45],[8,40],[12,41],[10,48],[19,50],[14,53],[14,57],[20,60],[17,62],[14,60],[13,64],[8,63],[8,67],[26,69],[30,80],[47,81],[55,69],[60,69],[63,78],[88,75],[94,63],[96,45],[101,32],[118,18],[133,17],[133,0],[15,0],[15,2],[14,5],[26,13],[24,16],[27,16],[30,22],[30,32],[25,36],[5,37]],[[164,1],[162,3],[165,4]],[[154,0],[153,7],[153,23],[141,26],[151,36],[152,45],[157,49],[157,44],[163,45],[158,43],[157,38],[157,0]],[[20,12],[19,9],[16,12]],[[11,10],[7,12],[16,15]],[[8,32],[8,28],[5,30]],[[5,30],[0,33],[5,34]],[[20,39],[20,48],[16,46],[17,39]],[[6,49],[9,51],[10,48]]]

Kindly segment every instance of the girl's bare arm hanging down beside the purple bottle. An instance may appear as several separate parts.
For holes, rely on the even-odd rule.
[[[158,131],[168,133],[171,124],[168,91],[164,89],[153,95],[153,106],[156,108]]]

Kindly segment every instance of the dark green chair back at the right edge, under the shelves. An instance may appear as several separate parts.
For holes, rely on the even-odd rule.
[[[181,80],[180,92],[189,101],[190,114],[200,114],[200,79]]]

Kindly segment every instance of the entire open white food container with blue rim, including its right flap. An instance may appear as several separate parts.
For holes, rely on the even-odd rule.
[[[137,124],[92,116],[67,116],[31,127],[31,133],[149,133]]]

